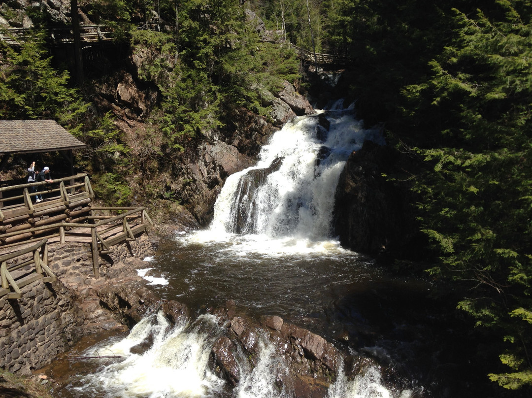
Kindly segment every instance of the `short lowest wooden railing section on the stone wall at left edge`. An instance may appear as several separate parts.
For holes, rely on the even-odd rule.
[[[47,242],[45,238],[30,247],[0,256],[0,297],[6,295],[8,299],[20,299],[22,287],[39,279],[44,282],[57,279],[48,267]],[[31,255],[26,259],[29,253]]]

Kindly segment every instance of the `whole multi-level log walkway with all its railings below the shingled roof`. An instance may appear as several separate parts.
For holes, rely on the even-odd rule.
[[[36,280],[56,279],[48,264],[48,245],[66,242],[90,244],[94,277],[98,258],[111,247],[135,241],[152,220],[146,208],[96,207],[85,173],[55,179],[54,183],[0,186],[0,297],[21,297],[20,288]],[[44,201],[32,202],[40,188]]]

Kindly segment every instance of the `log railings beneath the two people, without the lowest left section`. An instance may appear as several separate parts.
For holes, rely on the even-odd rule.
[[[69,185],[65,185],[68,181]],[[32,203],[29,187],[46,186],[46,197]],[[16,250],[45,236],[49,242],[89,243],[94,277],[99,278],[98,256],[111,246],[133,241],[152,220],[144,207],[93,207],[94,192],[85,173],[54,180],[0,187],[0,253]],[[101,214],[104,212],[105,214]],[[115,214],[120,213],[120,214]]]

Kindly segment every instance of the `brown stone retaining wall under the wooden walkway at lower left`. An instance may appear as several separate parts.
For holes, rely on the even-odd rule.
[[[100,256],[101,277],[94,279],[89,244],[48,247],[57,281],[37,280],[24,286],[21,299],[0,298],[0,368],[29,375],[84,333],[125,328],[100,308],[94,289],[110,283],[120,264],[152,255],[153,245],[144,234],[112,249]]]

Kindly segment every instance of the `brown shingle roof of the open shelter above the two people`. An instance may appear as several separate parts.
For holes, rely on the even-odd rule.
[[[0,154],[64,151],[85,146],[54,120],[0,120]]]

